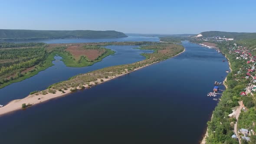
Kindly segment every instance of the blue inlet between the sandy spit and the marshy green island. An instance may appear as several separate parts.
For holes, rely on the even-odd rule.
[[[139,46],[105,46],[115,51],[115,55],[110,55],[97,62],[94,65],[82,68],[67,67],[60,56],[55,56],[53,66],[39,72],[37,75],[21,82],[16,82],[0,89],[0,104],[5,105],[14,99],[25,98],[30,92],[44,90],[49,85],[69,79],[80,73],[90,72],[96,69],[113,65],[122,65],[138,62],[145,59],[141,56],[144,52],[153,52],[152,50],[133,49]]]

